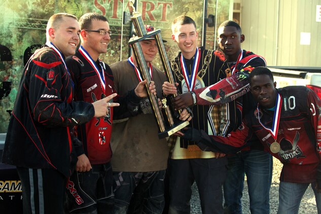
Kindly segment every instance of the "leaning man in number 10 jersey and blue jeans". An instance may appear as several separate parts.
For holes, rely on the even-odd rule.
[[[321,101],[304,86],[276,89],[266,67],[249,75],[251,92],[258,102],[238,130],[228,137],[208,136],[204,131],[185,130],[184,138],[197,142],[202,150],[228,154],[257,144],[283,163],[277,213],[298,213],[302,196],[311,184],[318,213],[321,213]]]

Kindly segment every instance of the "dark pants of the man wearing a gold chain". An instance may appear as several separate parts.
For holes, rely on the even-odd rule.
[[[190,213],[191,187],[196,182],[203,214],[223,213],[222,185],[227,158],[169,160],[169,213]]]

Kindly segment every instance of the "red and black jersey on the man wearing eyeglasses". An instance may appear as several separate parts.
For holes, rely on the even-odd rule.
[[[94,102],[116,93],[111,68],[100,59],[94,61],[81,46],[74,56],[66,58],[67,67],[75,83],[75,100]],[[125,114],[129,117],[138,114],[140,98],[129,91],[127,97],[115,97],[110,102],[120,102],[120,106],[110,108],[109,114],[103,118],[92,118],[88,123],[77,127],[77,136],[83,142],[77,147],[77,155],[86,154],[91,164],[104,164],[110,161],[112,150],[110,139],[114,114]],[[136,103],[136,104],[135,104]],[[132,107],[132,108],[129,108]],[[132,110],[132,111],[127,111]]]

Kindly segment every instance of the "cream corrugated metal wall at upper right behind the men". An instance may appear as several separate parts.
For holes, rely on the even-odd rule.
[[[262,55],[269,65],[321,66],[316,5],[321,0],[241,1],[242,48]],[[311,33],[310,45],[300,45],[301,32]]]

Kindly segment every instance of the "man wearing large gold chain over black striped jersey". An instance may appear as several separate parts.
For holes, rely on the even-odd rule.
[[[212,135],[227,135],[241,122],[241,112],[235,101],[224,105],[196,105],[193,90],[215,84],[226,78],[223,53],[197,47],[198,32],[195,21],[179,16],[172,22],[172,40],[180,48],[171,60],[177,89],[165,82],[164,94],[190,91],[193,95],[194,118],[189,127],[205,130]],[[201,151],[193,142],[171,137],[173,145],[169,159],[169,213],[190,213],[191,186],[197,184],[202,213],[223,213],[222,185],[227,172],[227,159],[221,154]]]

